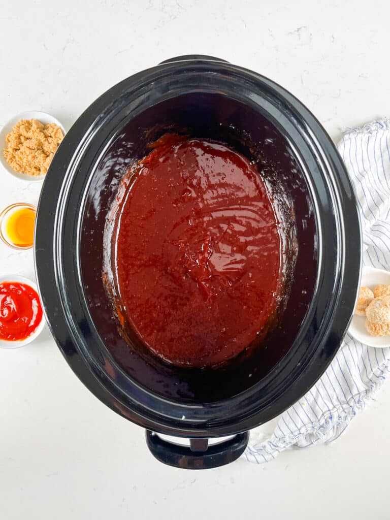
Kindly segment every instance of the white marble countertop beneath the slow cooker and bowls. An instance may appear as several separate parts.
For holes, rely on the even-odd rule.
[[[7,3],[0,11],[0,124],[49,112],[69,127],[124,77],[177,55],[225,58],[281,83],[337,139],[390,115],[390,4],[149,0]],[[40,184],[0,171],[0,206]],[[0,243],[0,271],[33,276]],[[47,329],[0,351],[0,518],[366,519],[387,513],[390,383],[330,446],[206,472],[155,462],[141,428],[77,380]],[[272,425],[263,426],[271,431]]]

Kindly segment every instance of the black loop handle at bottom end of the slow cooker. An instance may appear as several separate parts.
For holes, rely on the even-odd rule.
[[[209,439],[190,439],[190,446],[170,443],[157,433],[147,430],[146,443],[153,456],[170,466],[186,470],[206,470],[223,466],[240,457],[248,445],[249,432],[209,446]]]

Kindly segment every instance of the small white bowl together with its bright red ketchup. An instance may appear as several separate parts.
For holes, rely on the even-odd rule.
[[[27,345],[44,325],[36,284],[19,275],[0,276],[0,347]]]

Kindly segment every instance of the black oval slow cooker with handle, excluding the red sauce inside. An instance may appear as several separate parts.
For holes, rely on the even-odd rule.
[[[240,146],[275,164],[288,193],[296,258],[277,326],[216,369],[141,354],[120,334],[102,280],[104,230],[122,175],[164,132]],[[287,90],[207,56],[182,56],[128,77],[66,134],[46,175],[35,268],[50,330],[71,369],[116,413],[146,428],[166,464],[202,469],[237,459],[249,431],[302,397],[339,348],[360,276],[356,199],[330,137]],[[161,434],[190,439],[183,445]],[[222,441],[213,443],[220,437]]]

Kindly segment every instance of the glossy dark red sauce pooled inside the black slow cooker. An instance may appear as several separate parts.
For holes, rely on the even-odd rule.
[[[237,356],[266,330],[280,288],[277,218],[256,166],[217,142],[165,136],[125,186],[112,243],[122,324],[123,313],[174,365]]]

